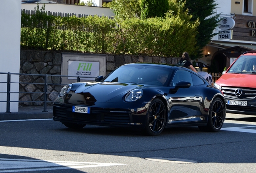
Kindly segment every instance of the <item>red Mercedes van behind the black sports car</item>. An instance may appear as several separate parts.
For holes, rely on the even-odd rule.
[[[256,51],[247,51],[215,82],[226,99],[227,112],[256,115]]]

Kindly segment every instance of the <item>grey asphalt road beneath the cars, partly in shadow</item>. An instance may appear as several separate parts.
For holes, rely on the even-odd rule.
[[[255,173],[256,116],[227,114],[218,133],[165,129],[158,137],[52,119],[0,121],[0,173]]]

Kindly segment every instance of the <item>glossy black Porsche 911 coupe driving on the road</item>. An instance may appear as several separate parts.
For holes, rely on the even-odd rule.
[[[225,120],[223,93],[188,68],[125,64],[95,81],[63,87],[53,119],[69,128],[133,127],[151,136],[180,126],[217,132]]]

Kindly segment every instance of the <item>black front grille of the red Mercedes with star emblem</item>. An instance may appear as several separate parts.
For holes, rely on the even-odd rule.
[[[237,97],[235,95],[235,91],[237,89],[242,90],[242,95]],[[237,88],[237,87],[221,87],[221,91],[223,92],[225,97],[233,98],[233,99],[253,99],[256,97],[256,89],[250,88]]]

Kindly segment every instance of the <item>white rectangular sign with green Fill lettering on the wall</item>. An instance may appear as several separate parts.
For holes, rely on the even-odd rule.
[[[81,78],[95,78],[99,76],[99,62],[68,61],[68,76],[81,76]],[[68,79],[73,79],[68,77]]]

